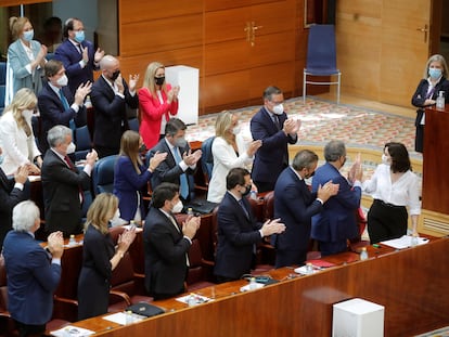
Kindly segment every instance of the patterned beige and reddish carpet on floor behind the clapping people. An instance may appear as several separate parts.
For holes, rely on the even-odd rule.
[[[251,139],[249,120],[260,106],[235,109],[240,116],[242,132]],[[333,139],[343,140],[348,147],[382,151],[388,141],[403,143],[412,157],[421,159],[414,148],[414,120],[386,112],[367,109],[354,105],[302,98],[285,101],[284,108],[291,118],[299,118],[302,128],[298,144],[324,145]],[[188,128],[190,141],[203,141],[215,133],[217,114],[201,116],[197,126]]]

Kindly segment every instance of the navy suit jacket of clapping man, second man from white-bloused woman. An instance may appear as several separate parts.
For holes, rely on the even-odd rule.
[[[284,169],[274,187],[274,219],[285,224],[285,232],[271,236],[273,246],[279,250],[307,251],[311,217],[322,210],[317,193],[311,193],[304,180],[293,171]],[[304,261],[298,261],[297,264]]]

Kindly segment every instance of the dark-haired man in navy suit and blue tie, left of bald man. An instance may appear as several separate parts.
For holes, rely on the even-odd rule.
[[[70,128],[86,125],[85,98],[92,87],[91,82],[80,85],[75,95],[67,87],[65,68],[60,61],[50,60],[44,65],[48,79],[38,95],[38,106],[42,121],[42,130],[39,135],[39,147],[44,153],[49,145],[47,132],[54,126],[62,125]]]

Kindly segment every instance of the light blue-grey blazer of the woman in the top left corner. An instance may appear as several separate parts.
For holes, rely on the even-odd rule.
[[[40,42],[33,40],[31,51],[36,59],[40,51]],[[38,66],[33,74],[29,74],[29,72],[25,68],[30,61],[24,46],[21,42],[21,39],[17,39],[15,42],[10,44],[8,49],[8,61],[13,70],[14,94],[21,88],[29,88],[33,89],[37,95],[40,89],[42,89],[43,69]]]

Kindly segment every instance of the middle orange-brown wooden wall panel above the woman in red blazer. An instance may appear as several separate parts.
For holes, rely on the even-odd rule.
[[[203,16],[184,15],[120,26],[121,56],[134,56],[203,44]]]

